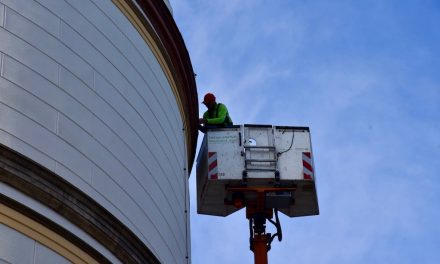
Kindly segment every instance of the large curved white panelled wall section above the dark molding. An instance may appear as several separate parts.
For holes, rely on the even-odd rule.
[[[0,143],[186,262],[182,116],[136,29],[107,0],[0,0],[0,26]]]

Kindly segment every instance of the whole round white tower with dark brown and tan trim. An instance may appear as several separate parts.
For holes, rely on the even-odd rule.
[[[198,103],[170,10],[0,0],[0,262],[190,262]]]

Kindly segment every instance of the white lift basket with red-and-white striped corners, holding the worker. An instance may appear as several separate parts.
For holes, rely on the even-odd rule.
[[[227,216],[264,195],[264,208],[319,214],[308,127],[209,129],[197,158],[197,211]]]

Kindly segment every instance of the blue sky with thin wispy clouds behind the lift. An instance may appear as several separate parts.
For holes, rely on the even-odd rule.
[[[311,129],[321,214],[281,217],[270,263],[440,263],[439,1],[170,2],[199,99]],[[243,210],[190,186],[193,263],[253,263]]]

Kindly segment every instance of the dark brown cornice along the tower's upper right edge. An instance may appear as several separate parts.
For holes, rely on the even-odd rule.
[[[195,75],[185,42],[168,7],[162,0],[124,0],[153,38],[176,85],[186,120],[188,168],[197,147],[198,97]]]

